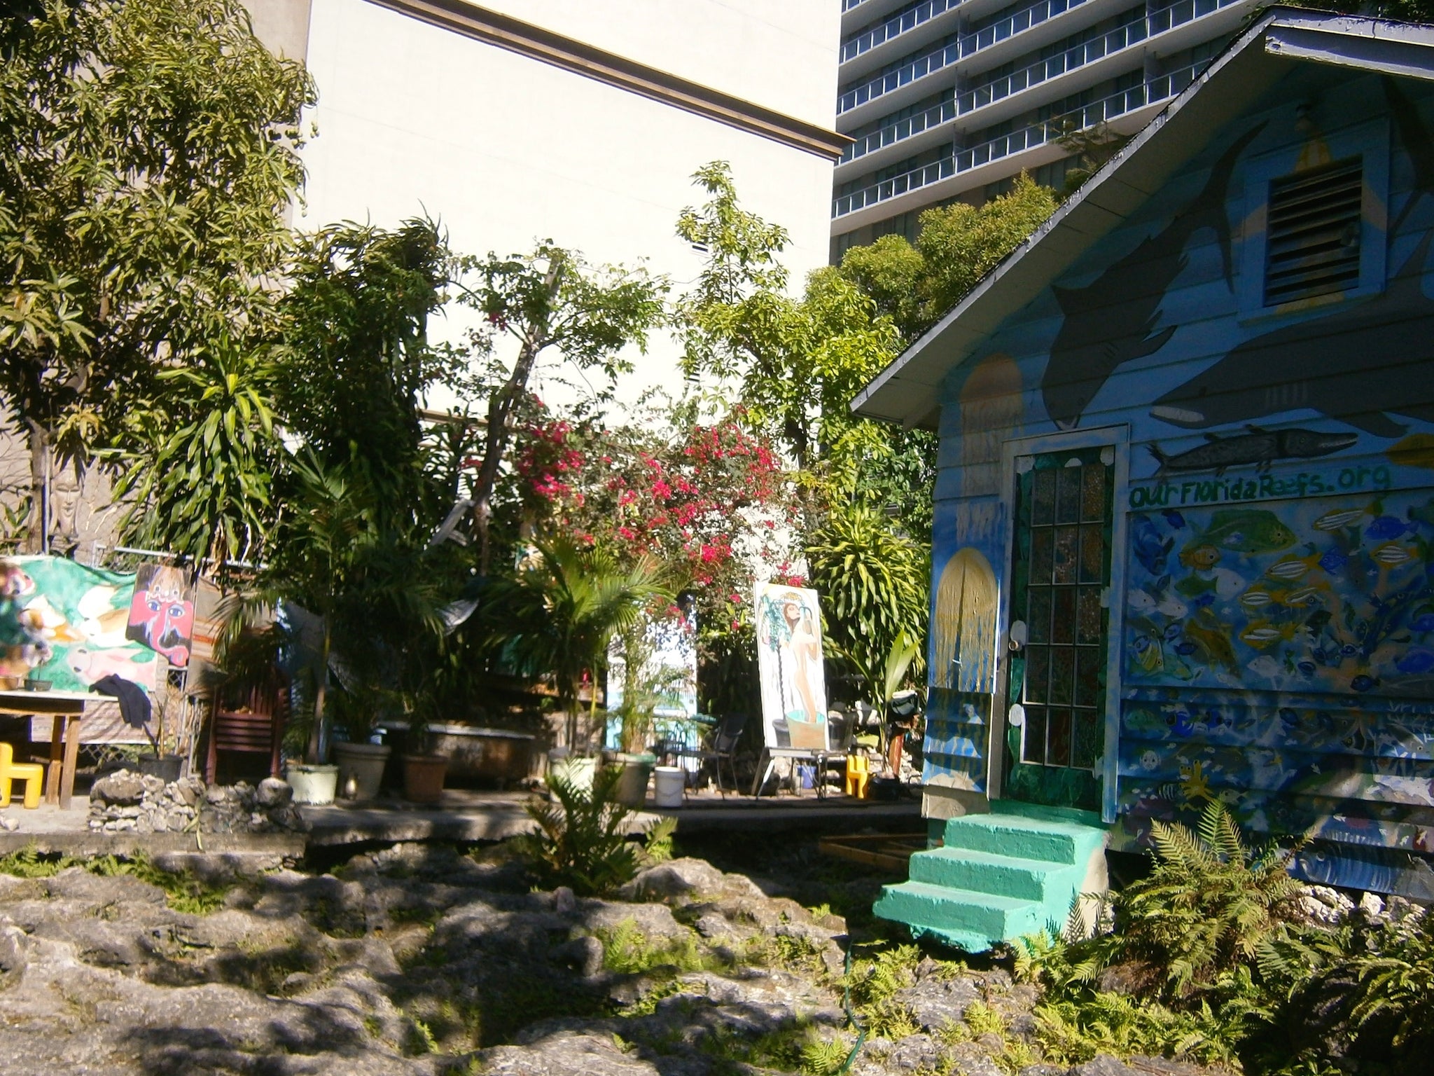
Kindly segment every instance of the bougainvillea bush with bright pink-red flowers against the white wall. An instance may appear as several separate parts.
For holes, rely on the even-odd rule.
[[[539,534],[670,565],[697,600],[703,664],[750,636],[756,578],[800,581],[792,564],[796,489],[741,412],[615,428],[539,413],[515,471]],[[703,704],[726,709],[711,690]]]

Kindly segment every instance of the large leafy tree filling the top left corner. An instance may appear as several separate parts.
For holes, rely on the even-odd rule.
[[[0,397],[36,488],[52,453],[128,446],[163,370],[272,326],[313,99],[239,0],[0,13]]]

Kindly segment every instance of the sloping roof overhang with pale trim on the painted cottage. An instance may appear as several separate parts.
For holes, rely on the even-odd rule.
[[[941,383],[1011,314],[1299,63],[1434,80],[1434,27],[1268,9],[1030,238],[852,400],[862,417],[935,429]]]

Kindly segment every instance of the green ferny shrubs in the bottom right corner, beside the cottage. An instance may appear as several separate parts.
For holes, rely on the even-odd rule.
[[[1021,938],[1050,1060],[1166,1054],[1268,1076],[1412,1072],[1434,1050],[1434,917],[1306,922],[1291,852],[1252,852],[1220,803],[1199,832],[1156,823],[1152,874],[1113,930]]]

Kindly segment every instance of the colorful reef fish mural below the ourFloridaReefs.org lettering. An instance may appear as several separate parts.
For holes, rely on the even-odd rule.
[[[1434,491],[1130,516],[1126,684],[1434,697]]]

